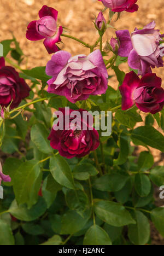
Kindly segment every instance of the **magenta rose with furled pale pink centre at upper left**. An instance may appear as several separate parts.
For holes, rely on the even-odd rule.
[[[43,5],[39,10],[40,20],[31,21],[27,27],[26,37],[31,41],[44,39],[44,46],[49,54],[56,53],[56,43],[61,42],[62,26],[57,26],[58,11]]]

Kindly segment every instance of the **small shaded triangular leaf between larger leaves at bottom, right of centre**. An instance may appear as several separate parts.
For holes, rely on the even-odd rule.
[[[103,229],[107,232],[112,242],[118,239],[122,234],[122,226],[111,226],[105,223],[103,225]]]

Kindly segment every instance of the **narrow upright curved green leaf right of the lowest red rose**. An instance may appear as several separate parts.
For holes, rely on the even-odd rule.
[[[128,138],[124,135],[124,133],[121,133],[119,136],[119,147],[120,147],[120,153],[118,159],[114,159],[113,164],[115,165],[122,165],[126,162],[128,153],[129,153],[129,147],[128,147]]]

